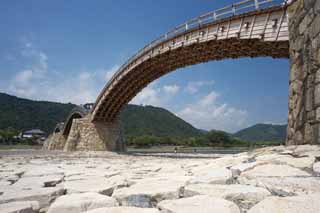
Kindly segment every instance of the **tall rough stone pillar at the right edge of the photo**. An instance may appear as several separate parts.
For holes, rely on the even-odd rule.
[[[290,86],[287,145],[320,144],[320,1],[288,8]]]

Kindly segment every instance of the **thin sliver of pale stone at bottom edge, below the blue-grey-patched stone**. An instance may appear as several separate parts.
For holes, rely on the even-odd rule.
[[[157,209],[153,208],[137,208],[137,207],[112,207],[112,208],[99,208],[88,211],[87,213],[160,213]]]

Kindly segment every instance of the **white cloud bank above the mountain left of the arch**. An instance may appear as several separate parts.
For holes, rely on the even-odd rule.
[[[19,97],[83,104],[94,102],[99,93],[97,82],[104,83],[98,71],[84,71],[77,76],[49,71],[48,56],[31,42],[25,42],[21,55],[27,69],[13,76],[6,89]]]

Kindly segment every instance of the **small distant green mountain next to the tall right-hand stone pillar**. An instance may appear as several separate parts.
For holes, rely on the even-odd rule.
[[[233,134],[234,137],[245,141],[279,141],[286,139],[287,125],[256,124]]]

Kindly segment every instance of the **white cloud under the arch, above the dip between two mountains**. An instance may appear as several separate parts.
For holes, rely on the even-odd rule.
[[[196,103],[186,106],[177,115],[197,128],[206,130],[219,129],[235,132],[246,127],[247,111],[227,104],[219,104],[219,96],[217,92],[212,91]]]

